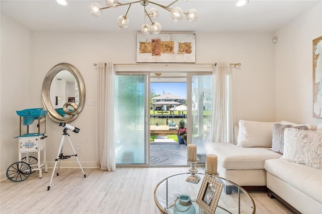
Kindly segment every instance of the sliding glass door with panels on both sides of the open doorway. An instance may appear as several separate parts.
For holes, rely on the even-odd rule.
[[[179,74],[182,74],[182,76]],[[155,77],[153,73],[150,74],[150,71],[119,71],[116,73],[115,78],[116,164],[149,166],[149,83],[150,81],[180,82],[179,80],[183,79],[183,77],[187,81],[187,117],[185,120],[187,122],[188,133],[191,133],[188,136],[187,142],[197,145],[198,158],[200,163],[204,163],[206,154],[204,143],[209,141],[211,130],[212,73],[169,72],[162,73],[162,75],[158,74]],[[178,91],[172,93],[176,94]],[[158,129],[161,127],[160,125],[165,125],[169,129],[167,120],[165,120],[165,123],[156,124],[155,122],[152,125]]]

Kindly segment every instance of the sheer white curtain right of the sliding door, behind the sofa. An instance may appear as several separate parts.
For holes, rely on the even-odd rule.
[[[233,143],[231,67],[219,62],[213,68],[211,142]]]

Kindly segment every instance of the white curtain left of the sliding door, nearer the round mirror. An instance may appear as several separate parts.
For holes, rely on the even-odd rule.
[[[100,62],[96,66],[98,71],[98,168],[114,171],[114,81],[115,71],[112,62]]]

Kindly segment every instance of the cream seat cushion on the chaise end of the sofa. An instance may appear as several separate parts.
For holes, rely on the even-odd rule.
[[[231,143],[206,143],[207,154],[218,157],[218,165],[225,169],[264,169],[264,161],[282,155],[271,148],[244,148]]]

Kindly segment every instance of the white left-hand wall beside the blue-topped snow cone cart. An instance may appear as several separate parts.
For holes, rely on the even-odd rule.
[[[14,139],[19,136],[19,116],[16,111],[34,106],[30,102],[30,82],[33,82],[30,56],[29,30],[1,16],[1,175],[18,161],[18,140]]]

